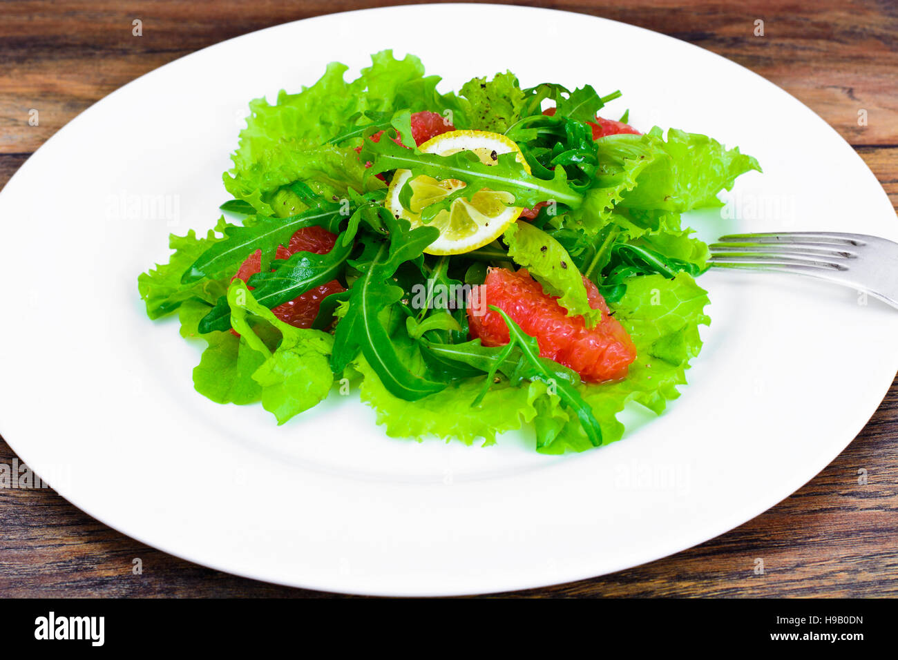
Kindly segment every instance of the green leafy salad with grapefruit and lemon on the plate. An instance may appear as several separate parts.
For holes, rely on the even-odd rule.
[[[541,453],[619,440],[630,400],[660,414],[710,321],[681,214],[757,161],[608,119],[620,92],[443,93],[390,50],[347,68],[251,101],[226,217],[138,277],[151,319],[205,342],[196,390],[278,424],[360,392],[389,436],[532,427]]]

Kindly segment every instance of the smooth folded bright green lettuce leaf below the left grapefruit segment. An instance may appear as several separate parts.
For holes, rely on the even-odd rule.
[[[328,360],[333,338],[329,334],[295,328],[280,321],[255,301],[240,279],[235,279],[228,288],[227,301],[231,306],[231,324],[240,332],[242,345],[252,348],[258,356],[252,363],[258,364],[252,380],[259,384],[262,407],[274,414],[278,425],[327,396],[333,384]],[[280,344],[273,352],[249,322],[250,313],[281,333]]]

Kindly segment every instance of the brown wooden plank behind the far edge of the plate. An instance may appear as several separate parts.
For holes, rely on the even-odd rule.
[[[33,151],[93,101],[192,50],[280,22],[385,4],[395,3],[218,3],[210,24],[205,10],[175,0],[66,2],[63,13],[58,4],[40,0],[4,3],[0,152]],[[788,89],[852,144],[894,144],[895,4],[826,0],[812,9],[778,0],[751,7],[691,0],[688,10],[679,0],[525,4],[593,13],[689,40]],[[143,21],[141,37],[131,33],[135,19]],[[753,34],[758,19],[764,21],[762,37]],[[28,126],[32,108],[40,111],[40,127]],[[867,126],[858,126],[858,110],[867,110]]]

